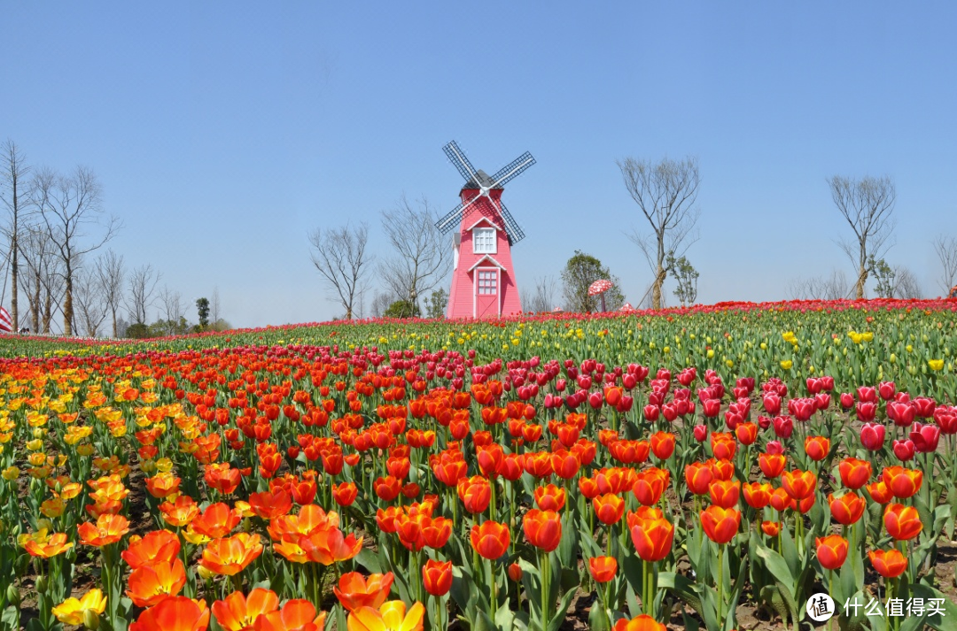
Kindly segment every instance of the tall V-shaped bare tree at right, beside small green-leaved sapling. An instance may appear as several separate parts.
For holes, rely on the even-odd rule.
[[[857,299],[864,297],[864,286],[871,270],[870,259],[880,259],[893,245],[894,205],[897,188],[888,177],[863,177],[860,180],[835,175],[828,180],[837,211],[854,231],[853,241],[838,242],[841,250],[857,266]]]

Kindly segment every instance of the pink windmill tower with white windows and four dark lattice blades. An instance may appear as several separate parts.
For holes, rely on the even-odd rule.
[[[504,185],[535,163],[527,151],[489,176],[476,170],[456,141],[442,147],[465,178],[458,192],[461,202],[438,220],[435,228],[453,228],[452,291],[448,317],[496,317],[522,311],[519,286],[512,266],[512,246],[525,233],[501,203]]]

